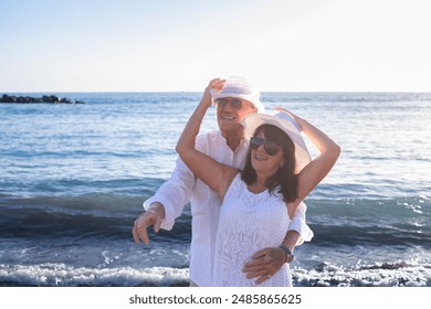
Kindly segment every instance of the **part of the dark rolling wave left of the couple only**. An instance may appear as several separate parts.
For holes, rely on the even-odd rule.
[[[2,238],[57,238],[87,236],[129,238],[135,219],[143,213],[140,196],[84,194],[0,199]],[[172,239],[190,238],[190,213],[176,224]],[[167,232],[161,232],[160,237]]]

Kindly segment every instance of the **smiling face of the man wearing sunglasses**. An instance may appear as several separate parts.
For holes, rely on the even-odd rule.
[[[216,100],[217,121],[223,132],[242,130],[241,121],[245,116],[257,113],[257,108],[245,99],[220,98]]]

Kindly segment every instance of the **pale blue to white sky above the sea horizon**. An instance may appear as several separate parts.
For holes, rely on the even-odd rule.
[[[429,0],[0,0],[0,92],[431,92]]]

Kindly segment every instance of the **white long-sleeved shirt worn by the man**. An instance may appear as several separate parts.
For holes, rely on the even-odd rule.
[[[220,130],[199,135],[196,149],[207,153],[216,161],[242,169],[249,142],[242,140],[235,151],[232,151]],[[165,220],[161,228],[171,230],[175,220],[179,217],[185,205],[191,205],[191,245],[190,245],[190,279],[198,286],[210,286],[212,265],[216,249],[216,234],[219,224],[221,201],[217,193],[196,179],[189,168],[178,158],[170,180],[165,182],[157,193],[144,202],[147,210],[154,202],[165,206]],[[301,203],[297,207],[288,230],[301,234],[301,243],[312,239],[313,232],[305,223],[306,205]]]

